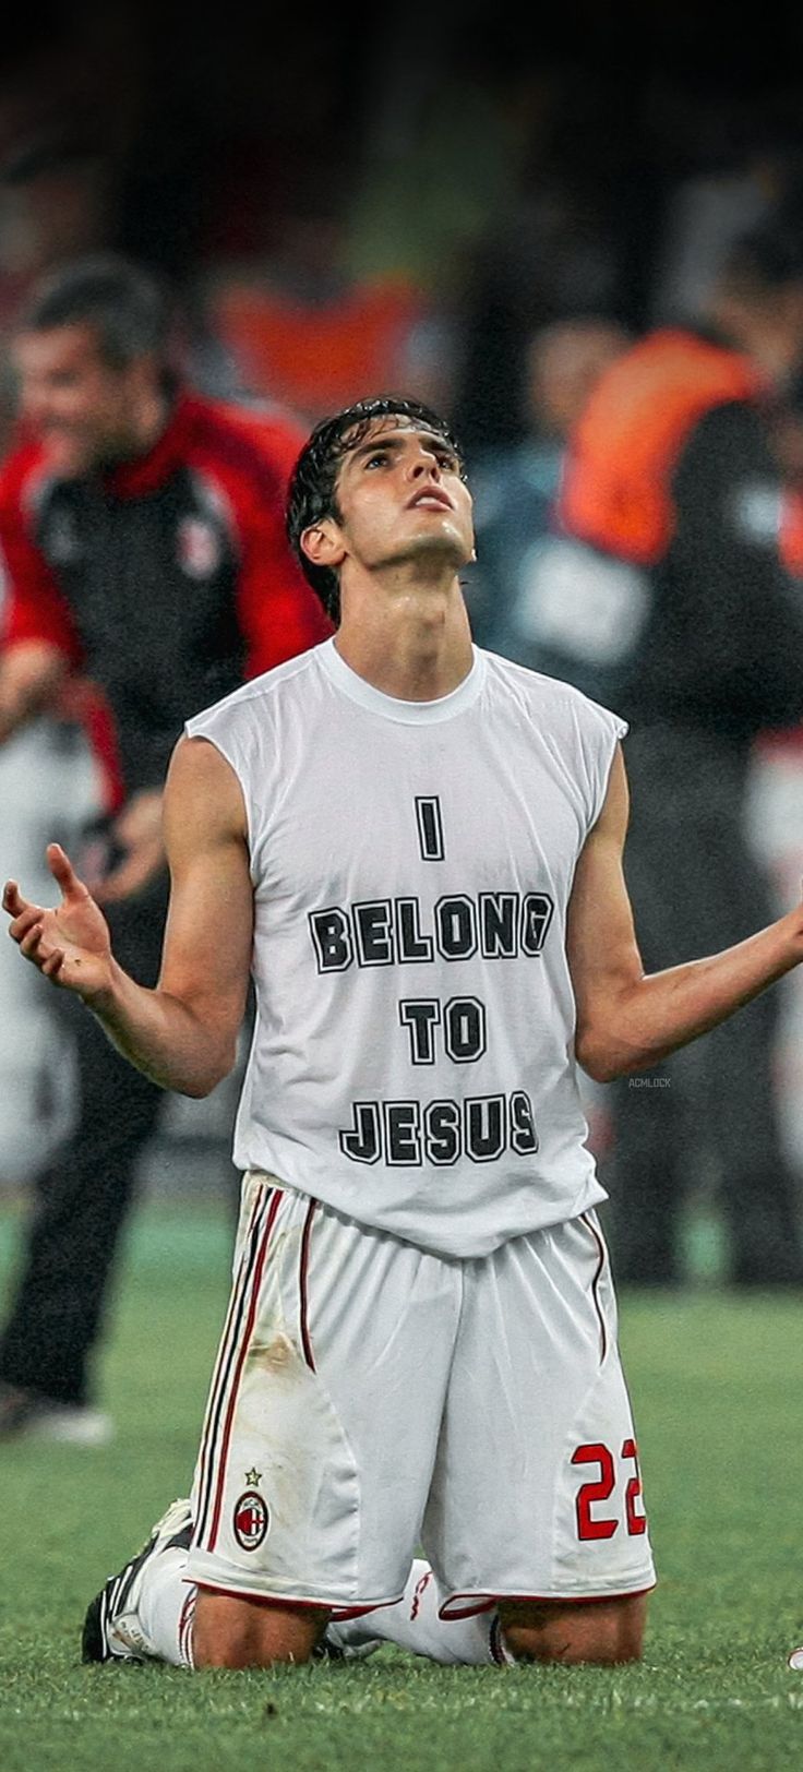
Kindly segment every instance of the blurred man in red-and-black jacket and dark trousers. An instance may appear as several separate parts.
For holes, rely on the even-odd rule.
[[[167,907],[161,783],[193,711],[321,640],[317,599],[284,533],[303,431],[181,386],[170,303],[115,255],[34,291],[14,342],[19,445],[0,473],[7,567],[0,739],[60,695],[105,758],[108,815],[82,872],[124,964],[154,983]],[[37,1205],[0,1336],[0,1437],[97,1442],[92,1352],[136,1159],[167,1097],[90,1015],[73,1015],[74,1131]]]

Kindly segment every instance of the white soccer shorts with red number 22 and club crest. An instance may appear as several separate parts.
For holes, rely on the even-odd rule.
[[[243,1182],[186,1579],[443,1616],[642,1593],[654,1566],[596,1214],[443,1260]]]

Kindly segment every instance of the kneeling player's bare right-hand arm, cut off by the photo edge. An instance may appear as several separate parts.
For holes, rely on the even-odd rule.
[[[603,812],[574,874],[567,952],[576,1056],[597,1083],[667,1058],[803,960],[803,907],[721,953],[647,975],[624,879],[628,778],[617,746]],[[679,833],[682,840],[682,833]]]

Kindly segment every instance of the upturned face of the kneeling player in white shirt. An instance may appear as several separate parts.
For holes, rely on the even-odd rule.
[[[369,569],[429,555],[459,571],[473,556],[472,494],[457,455],[404,415],[372,420],[344,455],[337,503],[346,553]]]

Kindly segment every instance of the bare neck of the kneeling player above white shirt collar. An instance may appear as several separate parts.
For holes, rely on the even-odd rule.
[[[383,695],[436,702],[468,677],[472,631],[459,587],[443,595],[411,590],[390,602],[360,599],[344,610],[335,647],[346,664]]]

